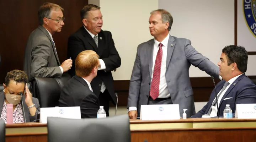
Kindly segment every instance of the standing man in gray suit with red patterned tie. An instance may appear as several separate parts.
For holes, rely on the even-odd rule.
[[[183,109],[188,109],[190,117],[196,113],[188,74],[191,64],[215,78],[219,77],[219,68],[198,53],[190,40],[169,35],[173,18],[168,11],[159,9],[150,14],[149,30],[154,39],[138,46],[130,79],[128,115],[136,119],[140,105],[179,104],[180,116]]]

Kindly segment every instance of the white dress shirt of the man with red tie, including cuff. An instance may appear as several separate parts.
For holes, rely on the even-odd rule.
[[[167,88],[165,72],[166,72],[166,59],[167,59],[167,47],[168,47],[168,40],[170,35],[168,34],[167,37],[161,42],[162,43],[162,63],[161,63],[161,73],[160,73],[160,84],[159,84],[159,96],[158,98],[168,98],[170,97],[170,93]],[[159,50],[159,43],[157,40],[154,40],[154,49],[153,49],[153,66],[152,66],[152,75],[151,75],[151,82],[154,74],[154,67],[155,67],[155,60],[156,55]],[[129,107],[128,111],[137,110],[137,107]]]

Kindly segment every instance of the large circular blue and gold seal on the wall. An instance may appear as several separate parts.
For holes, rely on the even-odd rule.
[[[247,27],[256,38],[256,0],[243,0],[243,10]]]

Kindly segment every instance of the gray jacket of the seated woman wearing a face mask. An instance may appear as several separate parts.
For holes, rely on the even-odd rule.
[[[30,111],[28,109],[28,106],[25,103],[25,95],[23,95],[22,100],[23,100],[23,103],[24,103],[23,105],[24,105],[24,111],[25,111],[25,113],[24,113],[24,111],[22,109],[23,119],[25,120],[25,118],[24,118],[24,114],[25,114],[26,122],[33,122],[34,120],[37,119],[38,112],[40,112],[40,105],[39,105],[38,99],[32,97],[32,101],[35,104],[35,107],[37,109],[36,115],[34,115],[34,116],[30,115]],[[4,106],[4,101],[5,101],[5,93],[4,92],[0,92],[0,113],[2,112],[2,107]]]

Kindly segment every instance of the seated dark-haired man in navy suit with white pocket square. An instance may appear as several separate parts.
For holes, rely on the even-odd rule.
[[[218,65],[219,75],[223,80],[216,85],[220,117],[223,116],[226,104],[230,105],[234,117],[236,104],[256,103],[256,85],[245,76],[247,60],[248,53],[244,47],[230,45],[222,49]],[[217,111],[216,95],[213,90],[208,103],[191,118],[201,118],[203,114],[216,117]]]

